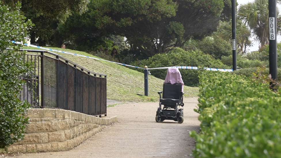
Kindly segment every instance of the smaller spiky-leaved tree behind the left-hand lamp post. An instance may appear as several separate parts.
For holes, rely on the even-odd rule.
[[[224,40],[232,43],[232,22],[220,22],[218,31],[214,32],[216,35],[222,37]],[[236,41],[237,53],[246,53],[247,47],[251,46],[251,31],[242,22],[236,20]]]

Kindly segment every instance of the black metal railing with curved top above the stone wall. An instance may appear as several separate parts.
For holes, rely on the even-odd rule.
[[[20,93],[34,108],[62,108],[88,115],[106,116],[106,75],[44,50],[22,50],[32,70],[22,78]]]

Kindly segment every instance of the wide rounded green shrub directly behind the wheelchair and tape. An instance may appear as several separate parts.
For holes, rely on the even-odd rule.
[[[167,54],[156,54],[147,60],[134,61],[131,65],[148,68],[169,67],[169,66],[197,66],[210,68],[229,68],[229,66],[221,63],[220,60],[214,59],[208,54],[201,51],[187,52],[181,48],[174,48]],[[138,71],[143,71],[136,69]],[[167,69],[149,70],[151,74],[157,78],[165,79]],[[200,70],[180,69],[183,82],[187,86],[196,87],[199,83],[198,74]]]

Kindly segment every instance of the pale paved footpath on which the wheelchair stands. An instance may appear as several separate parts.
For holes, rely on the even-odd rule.
[[[189,131],[199,131],[197,98],[184,98],[184,121],[157,123],[158,102],[117,104],[107,116],[117,122],[70,151],[17,154],[14,158],[191,158],[195,141]]]

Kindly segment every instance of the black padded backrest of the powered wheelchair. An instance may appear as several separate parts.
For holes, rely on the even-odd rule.
[[[163,96],[162,98],[170,98],[170,99],[181,99],[181,90],[182,84],[163,84]]]

